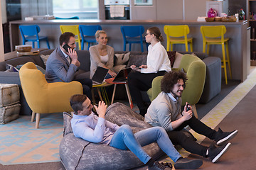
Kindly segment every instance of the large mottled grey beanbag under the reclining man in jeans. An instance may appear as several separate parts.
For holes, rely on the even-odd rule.
[[[60,142],[60,159],[65,169],[132,169],[143,163],[129,150],[116,149],[108,145],[95,144],[75,137],[72,132],[71,116],[64,113],[64,132]],[[151,128],[143,117],[122,103],[107,108],[106,120],[117,125],[130,125],[134,132]],[[153,158],[158,159],[164,152],[156,143],[143,147]]]

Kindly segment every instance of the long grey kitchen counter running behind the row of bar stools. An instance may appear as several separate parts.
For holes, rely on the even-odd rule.
[[[165,25],[188,25],[190,33],[188,36],[193,37],[193,50],[203,51],[203,38],[200,32],[201,26],[219,26],[224,25],[227,28],[225,37],[230,38],[228,42],[230,51],[230,62],[233,79],[244,81],[250,71],[250,28],[247,21],[240,22],[198,22],[183,20],[45,20],[45,21],[11,21],[10,22],[10,38],[11,49],[15,49],[15,45],[22,44],[22,38],[18,30],[19,25],[37,24],[41,28],[39,35],[47,35],[50,47],[58,47],[58,38],[61,34],[60,25],[100,25],[102,30],[107,32],[109,37],[108,45],[114,47],[116,51],[123,50],[123,38],[120,26],[144,26],[145,30],[152,26],[156,26],[161,30],[164,38],[162,45],[166,47],[166,35],[164,33]],[[41,42],[41,47],[46,47],[46,42]],[[85,45],[85,48],[87,46]],[[127,45],[128,49],[128,45]],[[85,49],[86,50],[86,49]],[[140,50],[139,45],[132,45],[132,50]],[[146,45],[144,45],[146,50]],[[174,50],[185,51],[185,45],[174,45]],[[212,45],[210,48],[210,56],[222,57],[220,45]],[[229,74],[228,74],[229,75]]]

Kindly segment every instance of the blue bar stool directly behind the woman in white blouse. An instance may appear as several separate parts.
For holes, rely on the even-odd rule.
[[[142,36],[144,33],[143,26],[121,26],[121,32],[124,38],[124,51],[126,51],[126,45],[129,43],[129,51],[131,51],[132,43],[138,43],[141,45],[142,52],[143,50],[143,42],[146,42],[145,37]],[[146,43],[146,49],[148,47],[148,43]]]

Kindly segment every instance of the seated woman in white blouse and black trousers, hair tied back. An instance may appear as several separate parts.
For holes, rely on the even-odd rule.
[[[136,101],[141,115],[146,114],[148,105],[144,103],[140,91],[147,91],[151,88],[151,83],[155,77],[171,72],[171,62],[166,49],[161,42],[164,41],[159,28],[151,27],[146,30],[146,42],[149,42],[146,65],[131,68],[136,72],[128,75],[129,90],[134,101]]]

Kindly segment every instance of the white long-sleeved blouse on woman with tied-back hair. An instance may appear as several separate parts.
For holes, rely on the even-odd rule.
[[[171,62],[161,42],[157,42],[154,46],[149,45],[146,66],[146,69],[142,69],[142,73],[171,72]]]

